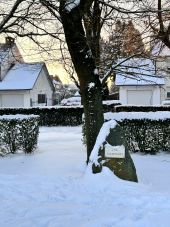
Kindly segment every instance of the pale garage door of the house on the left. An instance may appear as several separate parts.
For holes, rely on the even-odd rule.
[[[24,95],[2,95],[2,107],[23,107]]]

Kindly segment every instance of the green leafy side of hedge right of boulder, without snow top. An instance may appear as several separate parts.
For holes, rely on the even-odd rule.
[[[149,154],[170,151],[170,119],[125,119],[119,124],[130,151]]]

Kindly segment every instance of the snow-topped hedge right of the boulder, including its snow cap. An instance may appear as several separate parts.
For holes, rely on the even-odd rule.
[[[170,151],[170,112],[106,113],[105,120],[114,119],[124,131],[129,150],[155,154]]]

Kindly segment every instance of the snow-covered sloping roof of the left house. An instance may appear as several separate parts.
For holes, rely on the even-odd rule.
[[[30,90],[33,88],[44,63],[18,63],[0,82],[0,90]]]

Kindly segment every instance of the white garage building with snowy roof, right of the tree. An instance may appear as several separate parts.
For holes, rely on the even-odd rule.
[[[115,85],[119,87],[123,105],[160,105],[163,101],[165,78],[157,73],[151,59],[133,58],[123,62],[116,73]]]

